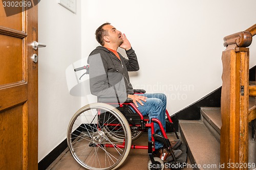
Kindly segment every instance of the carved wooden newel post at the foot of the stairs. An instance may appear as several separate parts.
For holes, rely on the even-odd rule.
[[[224,38],[221,92],[221,169],[248,169],[249,48],[252,36],[240,32]],[[241,164],[245,164],[241,166]]]

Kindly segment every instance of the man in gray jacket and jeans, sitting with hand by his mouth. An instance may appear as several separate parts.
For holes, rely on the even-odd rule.
[[[100,99],[115,98],[118,102],[124,102],[130,98],[143,115],[148,115],[150,119],[159,119],[165,128],[165,94],[134,94],[128,71],[139,70],[139,64],[135,51],[125,34],[106,22],[96,30],[95,35],[101,46],[96,47],[88,59],[92,94]],[[117,52],[118,47],[125,50],[128,59]],[[156,133],[161,134],[156,123],[154,129]],[[148,139],[151,140],[151,129],[148,129]],[[172,148],[177,148],[181,141],[171,143]],[[155,141],[155,149],[155,156],[162,160],[173,160],[172,154],[163,147],[163,143]],[[182,152],[175,150],[174,153],[178,157]]]

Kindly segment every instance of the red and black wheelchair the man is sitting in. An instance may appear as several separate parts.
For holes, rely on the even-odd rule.
[[[76,68],[75,71],[82,69],[87,70],[83,75],[89,74],[89,65]],[[134,92],[145,93],[144,90]],[[167,122],[172,125],[167,110],[166,115]],[[162,135],[155,133],[154,123],[159,125]],[[132,141],[139,138],[147,128],[152,129],[152,140],[148,141],[148,145],[132,145]],[[117,169],[129,155],[130,149],[148,150],[148,169],[163,169],[164,162],[153,155],[155,140],[164,143],[172,153],[174,160],[169,162],[174,165],[172,167],[180,167],[186,161],[175,157],[161,122],[143,116],[129,98],[124,103],[111,100],[102,103],[98,100],[98,103],[83,106],[73,115],[67,130],[68,148],[72,157],[83,168],[94,170]]]

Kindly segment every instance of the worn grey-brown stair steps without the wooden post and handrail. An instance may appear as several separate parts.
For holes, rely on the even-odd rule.
[[[250,98],[249,107],[254,105],[255,99]],[[201,120],[179,120],[180,134],[191,162],[188,167],[220,169],[221,125],[221,109],[213,107],[201,107]],[[252,163],[256,163],[256,141],[252,140],[249,124],[249,164]]]

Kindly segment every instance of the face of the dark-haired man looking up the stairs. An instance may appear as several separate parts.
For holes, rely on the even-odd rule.
[[[107,36],[111,43],[117,43],[118,46],[123,43],[122,33],[118,31],[115,27],[111,25],[105,25],[103,29],[108,32],[109,35]]]

